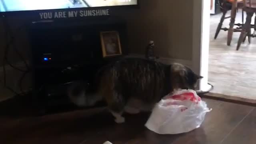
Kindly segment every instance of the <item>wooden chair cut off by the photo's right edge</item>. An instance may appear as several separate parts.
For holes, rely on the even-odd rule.
[[[255,32],[256,32],[256,17],[254,18],[254,32],[253,34],[251,34],[251,22],[252,22],[252,16],[254,13],[256,13],[256,0],[243,0],[244,1],[244,7],[243,10],[246,12],[246,22],[241,30],[239,39],[238,39],[238,43],[236,46],[236,50],[239,50],[242,42],[244,41],[244,38],[246,38],[246,36],[248,36],[248,42],[250,44],[251,40],[250,38],[254,38],[256,37]]]

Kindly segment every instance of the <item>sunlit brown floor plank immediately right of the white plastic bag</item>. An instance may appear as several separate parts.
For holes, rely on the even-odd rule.
[[[252,109],[252,106],[222,102],[206,114],[200,128],[183,134],[172,144],[220,144]]]

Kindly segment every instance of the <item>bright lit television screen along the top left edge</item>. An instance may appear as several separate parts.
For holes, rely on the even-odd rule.
[[[0,12],[137,5],[138,0],[0,0]]]

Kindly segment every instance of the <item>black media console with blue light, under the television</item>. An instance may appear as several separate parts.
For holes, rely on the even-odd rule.
[[[100,32],[117,31],[122,55],[104,58]],[[35,22],[28,26],[34,92],[44,110],[76,107],[66,95],[68,84],[84,80],[92,84],[105,64],[127,54],[126,24],[117,20]]]

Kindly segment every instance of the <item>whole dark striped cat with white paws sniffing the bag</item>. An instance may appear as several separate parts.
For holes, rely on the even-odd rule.
[[[200,78],[182,64],[124,58],[100,70],[93,92],[86,93],[86,86],[78,83],[68,95],[77,105],[93,105],[104,100],[115,121],[121,123],[124,122],[124,111],[133,114],[150,111],[156,102],[173,90],[194,89]]]

